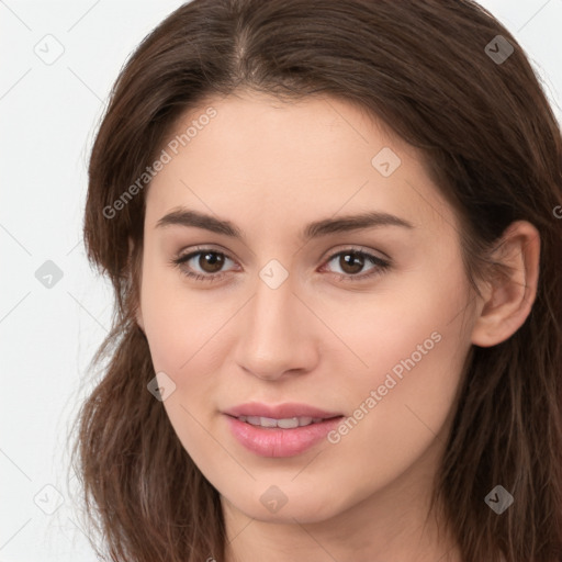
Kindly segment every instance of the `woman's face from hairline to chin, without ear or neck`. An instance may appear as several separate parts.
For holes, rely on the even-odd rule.
[[[245,93],[164,150],[138,322],[201,472],[261,520],[415,495],[474,324],[456,216],[415,149],[348,102]]]

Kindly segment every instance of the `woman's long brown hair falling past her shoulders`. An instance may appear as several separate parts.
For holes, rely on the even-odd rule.
[[[497,35],[514,48],[505,60],[486,47]],[[194,0],[122,69],[91,153],[83,227],[116,308],[74,449],[91,529],[111,560],[224,560],[218,493],[147,391],[155,372],[134,317],[146,190],[114,216],[104,210],[180,115],[236,89],[340,97],[415,146],[458,213],[476,291],[498,266],[486,256],[506,227],[537,227],[532,310],[507,340],[471,348],[434,502],[465,562],[562,560],[561,131],[524,49],[470,0]],[[515,497],[501,515],[484,502],[496,484]]]

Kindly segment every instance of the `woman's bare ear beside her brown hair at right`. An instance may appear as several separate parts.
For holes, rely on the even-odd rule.
[[[510,273],[488,280],[473,330],[472,342],[491,347],[508,339],[525,323],[537,295],[540,235],[527,221],[512,223],[493,259]]]

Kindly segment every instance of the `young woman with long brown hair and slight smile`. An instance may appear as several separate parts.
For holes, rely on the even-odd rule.
[[[194,0],[123,68],[79,418],[119,561],[562,560],[562,142],[463,0]]]

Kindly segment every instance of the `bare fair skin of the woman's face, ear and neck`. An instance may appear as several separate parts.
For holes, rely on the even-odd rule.
[[[176,384],[164,402],[181,443],[220,492],[227,561],[460,561],[454,541],[426,520],[431,482],[472,345],[493,346],[525,322],[536,294],[539,237],[514,223],[498,258],[509,279],[471,293],[459,226],[416,150],[349,102],[282,103],[237,92],[207,100],[177,123],[217,115],[151,181],[146,201],[140,302],[155,372]],[[401,159],[383,177],[371,159]],[[178,206],[228,220],[244,240],[193,226],[157,227]],[[367,210],[414,228],[380,226],[303,243],[304,225]],[[215,282],[203,256],[227,258]],[[359,248],[392,266],[357,281],[338,251]],[[259,272],[277,259],[277,289]],[[369,260],[357,276],[373,271]],[[351,272],[350,272],[351,271]],[[347,274],[348,281],[338,280]],[[307,403],[352,416],[417,346],[441,339],[342,436],[291,458],[247,451],[222,411],[249,401]],[[159,375],[159,381],[161,375]],[[260,502],[276,485],[286,503]],[[441,558],[442,557],[442,558]]]

